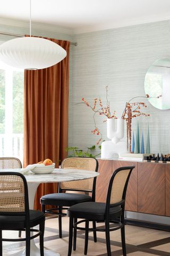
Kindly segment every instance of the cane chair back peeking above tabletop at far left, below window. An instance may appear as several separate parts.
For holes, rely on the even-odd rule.
[[[0,157],[0,169],[22,168],[20,159],[16,157]]]

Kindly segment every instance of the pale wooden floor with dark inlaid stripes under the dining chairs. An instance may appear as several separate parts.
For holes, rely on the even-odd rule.
[[[61,256],[67,256],[68,247],[68,225],[67,217],[63,218],[63,238],[58,237],[58,220],[57,218],[47,218],[45,230],[45,248],[58,252]],[[102,223],[98,223],[102,226]],[[141,228],[126,225],[126,250],[128,256],[154,256],[154,255],[169,255],[170,256],[170,233],[167,231],[160,231],[148,228]],[[24,235],[24,232],[22,233]],[[104,233],[97,233],[98,242],[93,242],[92,233],[89,234],[89,256],[107,256],[105,235]],[[16,231],[4,231],[5,237],[18,237]],[[38,239],[36,243],[38,246]],[[3,242],[3,256],[8,255],[9,252],[18,251],[20,247],[24,246],[24,242]],[[121,237],[120,230],[111,232],[111,247],[114,256],[121,256]],[[84,248],[84,234],[81,230],[78,231],[77,251],[73,251],[72,255],[82,256]]]

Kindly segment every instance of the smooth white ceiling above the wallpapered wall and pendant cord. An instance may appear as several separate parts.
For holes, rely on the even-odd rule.
[[[170,19],[170,0],[32,0],[32,22],[73,33]],[[0,18],[29,21],[30,0],[4,0]]]

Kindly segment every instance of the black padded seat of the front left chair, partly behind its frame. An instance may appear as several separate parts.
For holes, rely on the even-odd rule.
[[[45,219],[43,212],[30,210],[30,227],[35,227],[39,224],[41,219]],[[1,229],[22,229],[25,228],[25,217],[24,216],[13,216],[13,215],[1,215],[0,216],[0,227]]]

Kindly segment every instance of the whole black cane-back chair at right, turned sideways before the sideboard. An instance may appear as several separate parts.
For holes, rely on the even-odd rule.
[[[70,217],[69,226],[69,251],[72,252],[73,229],[85,230],[84,254],[88,249],[88,233],[90,231],[104,231],[106,235],[107,255],[111,256],[110,231],[121,228],[123,256],[126,256],[125,230],[124,230],[124,205],[128,181],[134,166],[121,167],[114,171],[109,182],[106,203],[86,202],[75,204],[67,210]],[[102,193],[102,191],[101,191]],[[74,219],[83,219],[73,223]],[[105,228],[89,228],[89,221],[105,222]],[[78,225],[85,222],[85,227]],[[109,223],[115,223],[110,227]]]

